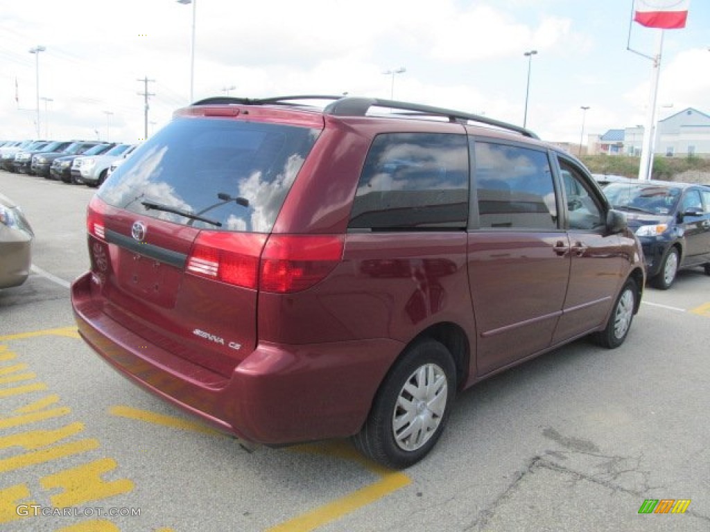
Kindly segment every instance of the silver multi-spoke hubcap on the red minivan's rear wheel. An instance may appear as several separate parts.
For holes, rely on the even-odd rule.
[[[392,416],[392,431],[402,450],[413,451],[434,436],[444,416],[447,377],[436,364],[423,365],[400,390]]]

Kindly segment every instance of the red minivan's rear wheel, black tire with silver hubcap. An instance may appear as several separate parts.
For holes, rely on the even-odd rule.
[[[393,469],[419,462],[444,431],[456,384],[454,360],[444,345],[431,339],[411,345],[380,385],[363,428],[352,438],[355,447]]]

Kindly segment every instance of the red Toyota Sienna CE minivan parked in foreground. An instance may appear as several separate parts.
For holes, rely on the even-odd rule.
[[[246,442],[353,437],[398,468],[461,390],[589,334],[621,345],[645,282],[572,155],[389,100],[199,101],[87,231],[72,306],[121,374]]]

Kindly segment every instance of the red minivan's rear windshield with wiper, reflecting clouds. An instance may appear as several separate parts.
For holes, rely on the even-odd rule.
[[[108,204],[197,228],[271,231],[320,130],[178,118],[116,168]]]

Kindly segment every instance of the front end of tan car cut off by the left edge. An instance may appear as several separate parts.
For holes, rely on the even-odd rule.
[[[34,233],[20,208],[0,194],[0,289],[27,279],[32,263]]]

